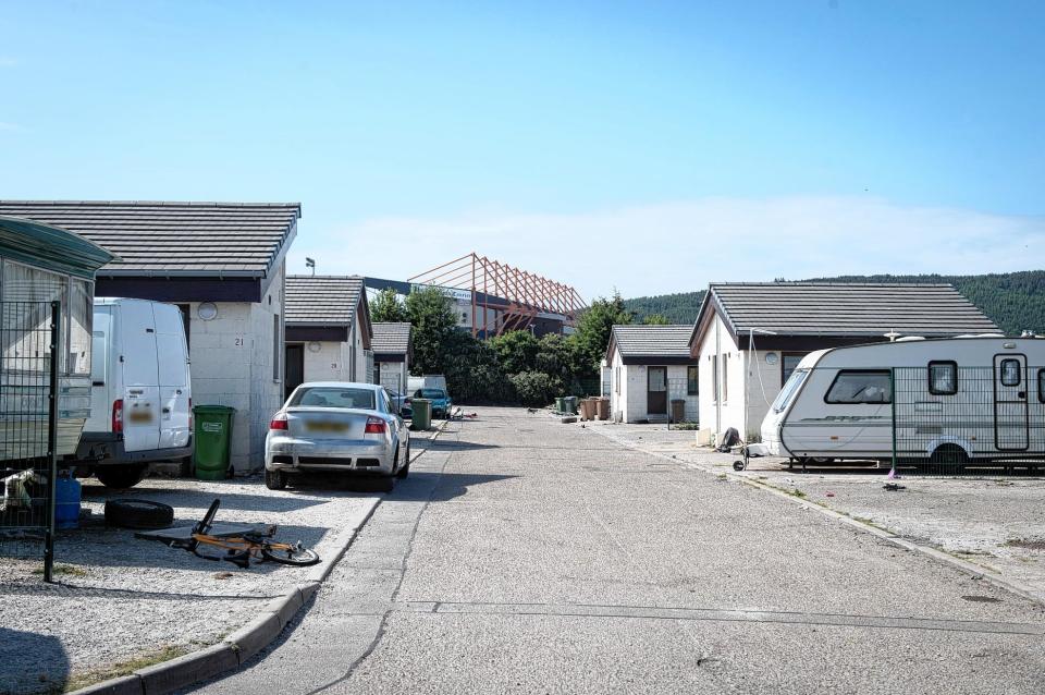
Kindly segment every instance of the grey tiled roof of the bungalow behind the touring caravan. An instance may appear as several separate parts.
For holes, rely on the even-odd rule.
[[[827,282],[712,283],[737,333],[751,328],[786,336],[957,336],[997,332],[994,321],[949,284]],[[699,322],[698,318],[698,322]]]

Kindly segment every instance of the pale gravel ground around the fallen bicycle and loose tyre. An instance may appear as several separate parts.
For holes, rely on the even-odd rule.
[[[419,455],[434,434],[413,435]],[[260,476],[221,481],[150,477],[113,491],[83,483],[81,527],[60,532],[57,584],[42,581],[37,546],[0,545],[0,695],[61,692],[100,680],[138,658],[170,658],[213,644],[316,570],[273,563],[248,570],[107,528],[106,500],[138,498],[174,508],[174,525],[198,521],[221,498],[219,522],[276,524],[276,539],[300,540],[323,563],[370,512],[380,493],[316,477],[283,491]],[[32,551],[28,557],[26,551]]]

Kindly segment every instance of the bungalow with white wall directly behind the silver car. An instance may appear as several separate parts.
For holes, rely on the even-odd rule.
[[[372,337],[362,278],[287,276],[285,395],[304,381],[372,382]]]

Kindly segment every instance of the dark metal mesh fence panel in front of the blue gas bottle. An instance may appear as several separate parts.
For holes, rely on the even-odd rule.
[[[0,554],[53,560],[58,302],[0,304]]]

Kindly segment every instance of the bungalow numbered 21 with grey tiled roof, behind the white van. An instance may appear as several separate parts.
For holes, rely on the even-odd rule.
[[[0,200],[0,215],[53,224],[113,252],[98,296],[181,307],[194,404],[236,409],[232,466],[263,463],[283,401],[283,278],[297,203]]]

